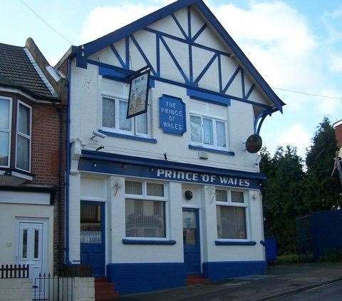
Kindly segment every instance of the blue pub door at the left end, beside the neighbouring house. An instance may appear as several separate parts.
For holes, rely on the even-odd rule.
[[[81,265],[105,276],[105,204],[81,202]]]

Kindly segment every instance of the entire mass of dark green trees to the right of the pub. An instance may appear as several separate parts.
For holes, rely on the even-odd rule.
[[[306,167],[296,148],[278,148],[273,157],[261,149],[260,171],[267,177],[262,188],[266,237],[277,240],[279,255],[296,252],[296,218],[316,210],[342,205],[341,187],[331,178],[336,138],[324,118],[306,156]]]

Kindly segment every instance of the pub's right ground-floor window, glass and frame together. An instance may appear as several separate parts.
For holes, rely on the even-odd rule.
[[[246,194],[238,190],[216,190],[217,238],[247,240]]]

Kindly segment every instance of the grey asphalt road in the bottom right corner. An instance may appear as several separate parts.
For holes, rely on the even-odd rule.
[[[292,296],[274,299],[276,301],[341,301],[342,281],[322,285],[311,290],[299,292]]]

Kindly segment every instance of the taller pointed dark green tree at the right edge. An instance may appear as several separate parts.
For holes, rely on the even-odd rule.
[[[341,184],[331,178],[337,151],[336,136],[327,117],[319,124],[306,155],[304,204],[308,211],[341,208]]]

